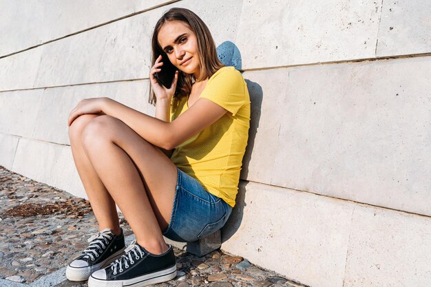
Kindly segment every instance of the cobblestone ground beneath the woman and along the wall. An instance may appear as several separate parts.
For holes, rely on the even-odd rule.
[[[127,222],[123,217],[120,222],[131,240]],[[38,281],[66,266],[96,232],[89,202],[0,167],[0,278],[6,279],[0,286],[9,286],[4,283],[8,281],[11,286],[14,282],[45,286]],[[204,257],[178,248],[175,253],[177,277],[154,287],[302,286],[222,251]],[[55,286],[84,287],[87,283],[65,280]]]

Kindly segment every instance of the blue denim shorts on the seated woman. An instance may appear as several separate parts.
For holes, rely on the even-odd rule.
[[[171,222],[163,235],[178,242],[193,242],[222,228],[232,207],[206,191],[198,180],[177,171]]]

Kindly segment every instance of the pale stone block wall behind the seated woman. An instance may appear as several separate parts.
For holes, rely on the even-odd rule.
[[[147,114],[170,7],[209,25],[252,102],[224,251],[309,286],[431,281],[428,1],[0,1],[0,164],[85,197],[67,137],[81,98]]]

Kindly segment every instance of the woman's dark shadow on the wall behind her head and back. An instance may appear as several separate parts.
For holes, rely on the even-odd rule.
[[[223,65],[233,66],[237,70],[242,69],[241,53],[238,47],[231,41],[225,41],[217,47],[218,59]],[[246,152],[242,160],[242,170],[240,178],[240,184],[238,187],[238,194],[236,196],[236,204],[233,208],[229,220],[224,224],[222,228],[222,242],[225,242],[231,238],[238,228],[241,226],[242,218],[244,217],[244,207],[246,187],[249,184],[245,179],[249,174],[249,164],[251,160],[251,153],[255,144],[255,138],[257,134],[257,128],[260,123],[260,115],[262,109],[262,98],[263,92],[262,87],[245,78],[247,88],[249,89],[250,101],[251,101],[251,120],[249,129],[249,140],[247,141]]]

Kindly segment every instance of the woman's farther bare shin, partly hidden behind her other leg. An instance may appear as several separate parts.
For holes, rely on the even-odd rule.
[[[72,148],[72,155],[79,177],[83,182],[85,192],[98,221],[99,231],[109,228],[115,234],[119,234],[120,225],[115,202],[96,171],[94,171],[92,162],[87,158],[82,145],[83,129],[87,123],[90,123],[90,120],[97,116],[96,114],[85,114],[74,120],[69,127],[70,147]]]

